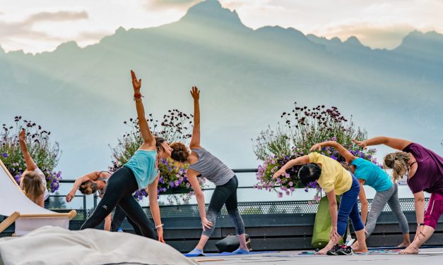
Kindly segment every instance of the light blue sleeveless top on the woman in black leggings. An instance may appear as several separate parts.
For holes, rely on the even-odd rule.
[[[155,156],[157,156],[156,150],[137,150],[128,163],[124,164],[134,173],[139,189],[144,189],[153,183],[158,174],[158,168],[155,168]]]

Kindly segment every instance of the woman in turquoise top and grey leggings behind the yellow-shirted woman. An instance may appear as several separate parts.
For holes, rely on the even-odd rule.
[[[314,144],[311,147],[311,151],[314,149],[321,150],[321,147],[333,147],[337,149],[349,164],[350,171],[358,178],[360,182],[360,204],[362,206],[362,221],[366,223],[366,238],[369,237],[374,231],[377,218],[386,205],[391,207],[391,211],[394,212],[398,224],[400,225],[401,232],[403,233],[403,242],[398,247],[408,247],[410,245],[409,239],[409,226],[406,216],[401,211],[400,202],[398,200],[398,185],[393,183],[389,175],[379,166],[375,165],[371,161],[367,161],[360,157],[355,157],[345,147],[338,142],[329,141]],[[367,199],[365,189],[362,185],[368,185],[373,187],[377,192],[372,199],[371,209],[369,214],[367,213]],[[366,220],[367,219],[367,220]],[[353,246],[355,251],[359,251],[358,242]]]

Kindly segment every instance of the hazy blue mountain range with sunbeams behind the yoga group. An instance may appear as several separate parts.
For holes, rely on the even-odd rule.
[[[337,106],[370,137],[404,137],[442,154],[443,35],[413,31],[396,49],[371,49],[356,37],[252,30],[216,0],[175,23],[120,27],[84,48],[66,42],[35,55],[0,48],[0,122],[21,115],[51,130],[65,175],[102,170],[108,144],[136,116],[131,69],[143,80],[146,113],[158,119],[168,109],[191,113],[189,90],[198,86],[202,145],[233,168],[257,165],[251,138],[294,101]]]

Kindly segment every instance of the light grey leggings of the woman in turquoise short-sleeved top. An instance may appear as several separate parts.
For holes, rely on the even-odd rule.
[[[401,211],[400,201],[398,201],[398,185],[394,183],[389,190],[377,192],[372,200],[371,209],[367,216],[366,222],[366,238],[369,237],[375,228],[375,223],[380,214],[382,214],[383,208],[386,203],[391,207],[391,211],[394,212],[398,224],[400,225],[401,233],[403,235],[409,233],[408,220]]]

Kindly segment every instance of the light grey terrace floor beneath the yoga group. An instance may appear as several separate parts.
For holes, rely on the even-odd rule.
[[[194,257],[199,264],[328,264],[328,265],[346,265],[358,264],[442,264],[443,247],[420,249],[417,255],[403,255],[394,251],[385,251],[384,253],[353,254],[351,256],[320,256],[303,255],[302,251],[283,251],[283,252],[264,252],[248,255],[230,255],[230,256],[211,256]]]

